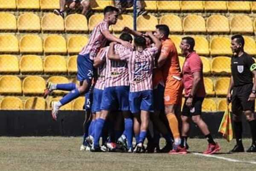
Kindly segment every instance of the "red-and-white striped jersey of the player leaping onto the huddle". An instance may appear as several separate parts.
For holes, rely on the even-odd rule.
[[[102,31],[108,30],[108,22],[103,20],[93,29],[88,44],[79,53],[80,55],[90,54],[90,59],[93,60],[100,48],[104,47],[107,43],[106,37],[102,34]]]

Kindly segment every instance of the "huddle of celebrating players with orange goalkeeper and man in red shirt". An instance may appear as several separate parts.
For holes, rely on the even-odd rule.
[[[194,39],[184,37],[180,44],[183,55],[188,58],[187,65],[189,60],[191,63],[183,67],[182,76],[167,25],[157,25],[154,34],[124,28],[117,38],[108,30],[110,25],[116,24],[117,18],[117,8],[105,7],[104,20],[96,25],[77,58],[79,86],[47,83],[44,97],[53,90],[70,91],[60,101],[52,103],[53,119],[57,120],[61,106],[85,94],[87,117],[81,150],[186,154],[189,118],[192,117],[209,142],[204,154],[219,151],[220,146],[212,139],[200,116],[205,90],[200,79],[202,62],[193,50]],[[193,82],[192,76],[199,79]],[[181,117],[183,84],[186,100]],[[198,84],[197,88],[191,88],[192,84]],[[160,134],[166,140],[163,149],[159,149]],[[146,149],[145,138],[148,140]]]

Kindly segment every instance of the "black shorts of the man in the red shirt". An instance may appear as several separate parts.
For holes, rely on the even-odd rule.
[[[201,115],[202,113],[202,103],[204,101],[204,97],[194,97],[192,101],[192,107],[189,108],[186,105],[186,100],[188,98],[185,98],[183,108],[182,108],[182,113],[181,115],[191,117],[195,115]]]

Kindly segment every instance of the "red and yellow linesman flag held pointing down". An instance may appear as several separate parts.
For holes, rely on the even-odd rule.
[[[231,120],[231,115],[230,115],[230,111],[229,111],[229,107],[227,107],[222,121],[221,121],[221,125],[219,127],[218,130],[219,133],[222,134],[222,136],[228,141],[230,142],[233,139],[233,129],[232,129],[232,120]]]

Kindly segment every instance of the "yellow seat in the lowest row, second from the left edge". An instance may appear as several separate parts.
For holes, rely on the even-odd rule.
[[[47,102],[41,97],[31,97],[26,99],[24,110],[46,110]]]

